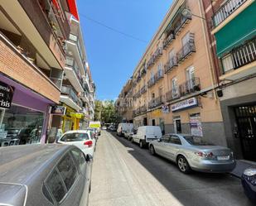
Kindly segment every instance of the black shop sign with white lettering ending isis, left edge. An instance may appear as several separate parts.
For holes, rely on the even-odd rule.
[[[11,108],[14,87],[0,82],[0,108]]]

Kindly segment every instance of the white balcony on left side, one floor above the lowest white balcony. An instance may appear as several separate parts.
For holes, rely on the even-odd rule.
[[[66,56],[65,66],[66,78],[70,80],[71,84],[75,87],[77,91],[83,92],[84,81],[75,60],[69,56]]]

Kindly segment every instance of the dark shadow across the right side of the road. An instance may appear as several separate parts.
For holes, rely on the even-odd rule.
[[[146,168],[183,205],[248,205],[253,206],[244,195],[239,179],[229,174],[209,174],[192,172],[182,174],[176,164],[162,158],[151,156],[147,149],[141,149],[124,137],[111,134],[123,146],[132,148],[128,153]]]

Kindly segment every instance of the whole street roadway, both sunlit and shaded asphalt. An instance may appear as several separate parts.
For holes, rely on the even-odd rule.
[[[89,206],[251,206],[239,179],[194,172],[151,156],[123,137],[102,131],[94,154]]]

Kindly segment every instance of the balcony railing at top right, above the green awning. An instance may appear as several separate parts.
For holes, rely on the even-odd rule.
[[[216,26],[219,26],[221,22],[224,22],[232,13],[234,13],[239,7],[241,7],[244,2],[248,0],[229,0],[223,4],[220,9],[215,12],[213,21]]]

